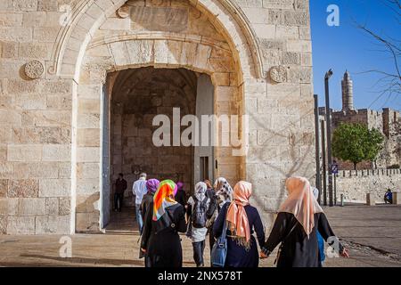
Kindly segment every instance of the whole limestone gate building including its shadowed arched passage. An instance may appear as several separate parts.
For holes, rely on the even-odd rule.
[[[285,177],[313,176],[307,0],[37,3],[0,5],[0,234],[99,232],[140,171],[246,179],[268,226]],[[176,107],[238,116],[234,142],[156,148]]]

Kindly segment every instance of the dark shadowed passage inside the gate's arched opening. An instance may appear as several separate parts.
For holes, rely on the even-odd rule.
[[[102,94],[102,209],[106,231],[135,232],[132,185],[145,172],[148,178],[184,183],[214,179],[213,146],[156,146],[153,118],[166,115],[173,130],[173,108],[185,115],[212,115],[214,87],[210,77],[189,69],[144,67],[109,74]],[[187,126],[180,127],[180,134]],[[210,128],[210,132],[212,132]],[[172,141],[172,140],[171,140]],[[113,183],[119,173],[127,180],[122,213],[113,212]]]

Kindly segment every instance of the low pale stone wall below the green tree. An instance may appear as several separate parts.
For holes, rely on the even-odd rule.
[[[366,202],[366,193],[372,193],[376,202],[383,202],[387,189],[401,191],[400,169],[340,171],[337,176],[337,199],[340,194],[349,202]]]

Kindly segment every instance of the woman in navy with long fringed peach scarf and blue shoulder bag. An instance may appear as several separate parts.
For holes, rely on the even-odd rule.
[[[221,236],[227,223],[227,256],[225,267],[258,267],[258,246],[253,232],[257,233],[261,247],[265,231],[258,209],[250,206],[252,184],[240,181],[233,189],[233,201],[225,203],[213,226],[216,237]]]

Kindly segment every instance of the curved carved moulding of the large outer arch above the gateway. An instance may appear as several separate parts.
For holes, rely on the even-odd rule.
[[[111,13],[127,0],[81,0],[76,4],[57,36],[49,73],[78,79],[86,46],[95,31]],[[233,0],[189,0],[194,7],[209,15],[212,24],[225,31],[225,37],[239,65],[239,84],[243,77],[265,77],[258,37],[250,21]]]

